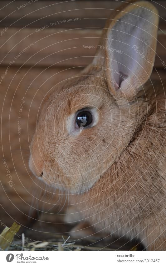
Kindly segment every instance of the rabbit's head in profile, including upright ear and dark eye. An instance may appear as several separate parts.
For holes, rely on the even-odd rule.
[[[157,25],[152,4],[125,3],[107,21],[92,64],[50,91],[29,161],[46,184],[89,190],[129,144],[147,109],[143,85],[154,65]]]

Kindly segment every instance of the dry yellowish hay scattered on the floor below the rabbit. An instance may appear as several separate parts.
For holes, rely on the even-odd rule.
[[[46,239],[46,241],[34,241],[30,238],[26,238],[22,233],[22,240],[14,239],[16,232],[20,229],[17,223],[13,223],[12,227],[6,227],[0,235],[0,248],[2,250],[53,250],[53,251],[82,251],[82,250],[139,250],[139,246],[134,243],[124,246],[123,241],[115,243],[113,245],[110,242],[94,241],[88,238],[88,240],[80,240],[77,243],[70,240],[70,236],[57,235],[54,238]],[[42,240],[42,239],[41,239]],[[124,242],[125,243],[125,242]]]

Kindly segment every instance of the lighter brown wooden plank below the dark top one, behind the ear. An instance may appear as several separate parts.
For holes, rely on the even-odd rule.
[[[9,28],[2,35],[2,65],[81,66],[93,59],[101,30]],[[91,49],[84,45],[95,46]],[[166,62],[165,33],[159,31],[155,67],[163,69]]]

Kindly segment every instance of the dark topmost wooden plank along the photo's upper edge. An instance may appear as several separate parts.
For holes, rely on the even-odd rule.
[[[10,1],[1,1],[2,7],[10,3],[0,13],[0,20],[3,19],[1,27],[12,25],[12,27],[40,28],[50,23],[55,23],[51,27],[56,29],[60,27],[104,27],[105,19],[110,17],[111,11],[122,3],[122,1],[36,1],[26,5],[27,2],[27,0],[11,3]],[[166,19],[166,1],[153,2],[153,4],[159,10],[161,22],[159,28],[164,29],[166,28],[164,20]],[[62,22],[71,18],[81,19]]]

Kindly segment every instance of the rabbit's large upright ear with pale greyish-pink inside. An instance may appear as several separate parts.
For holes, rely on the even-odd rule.
[[[149,79],[155,59],[158,11],[146,1],[130,2],[133,3],[125,3],[120,11],[115,11],[104,34],[108,87],[118,97],[131,96],[141,89]]]

